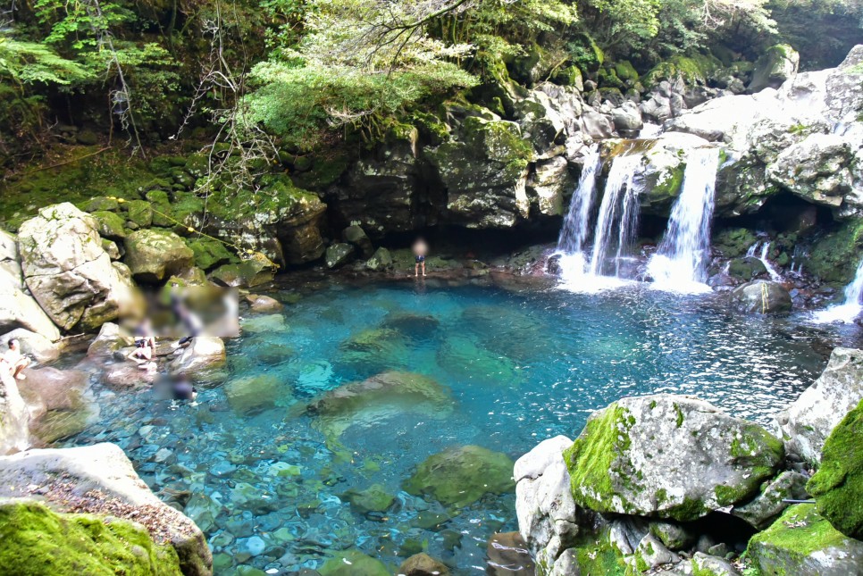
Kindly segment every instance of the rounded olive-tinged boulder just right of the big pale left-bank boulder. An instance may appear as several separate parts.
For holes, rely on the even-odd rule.
[[[182,238],[169,230],[136,230],[123,242],[124,263],[142,282],[160,282],[180,274],[195,262],[195,253]]]

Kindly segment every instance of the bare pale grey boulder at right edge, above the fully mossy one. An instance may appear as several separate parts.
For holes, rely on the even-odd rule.
[[[834,348],[812,386],[776,416],[788,452],[821,461],[825,440],[863,400],[863,350]]]

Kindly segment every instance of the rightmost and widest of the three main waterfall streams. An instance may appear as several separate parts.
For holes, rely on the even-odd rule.
[[[704,282],[718,168],[718,148],[697,148],[687,154],[683,189],[672,208],[666,234],[648,263],[648,273],[657,288],[685,292],[710,289]]]

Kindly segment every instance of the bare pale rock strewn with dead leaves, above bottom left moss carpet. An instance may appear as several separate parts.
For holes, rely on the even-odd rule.
[[[139,522],[157,543],[174,547],[183,574],[212,573],[212,555],[195,522],[155,497],[114,444],[0,457],[0,497],[36,498],[59,512],[110,514]]]

